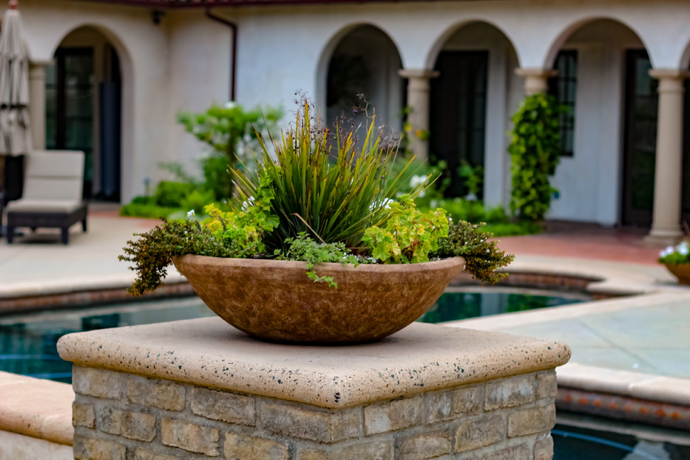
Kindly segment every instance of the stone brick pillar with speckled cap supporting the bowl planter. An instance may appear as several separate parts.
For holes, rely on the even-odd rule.
[[[558,342],[415,323],[291,346],[217,318],[79,332],[76,459],[551,459]]]

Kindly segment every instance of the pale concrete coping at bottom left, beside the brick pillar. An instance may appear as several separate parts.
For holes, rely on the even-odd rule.
[[[72,445],[74,399],[67,383],[0,371],[0,431]]]

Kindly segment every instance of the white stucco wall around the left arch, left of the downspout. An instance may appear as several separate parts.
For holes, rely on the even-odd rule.
[[[193,159],[203,146],[175,123],[181,109],[201,111],[229,98],[230,31],[203,10],[169,12],[82,1],[23,0],[31,60],[52,60],[71,31],[92,26],[118,52],[122,68],[122,201],[167,174],[160,162]]]

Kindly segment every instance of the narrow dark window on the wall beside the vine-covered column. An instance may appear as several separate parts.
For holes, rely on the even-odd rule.
[[[567,109],[560,114],[560,147],[563,156],[572,157],[575,144],[577,52],[574,49],[559,52],[553,68],[558,75],[549,80],[549,94]]]

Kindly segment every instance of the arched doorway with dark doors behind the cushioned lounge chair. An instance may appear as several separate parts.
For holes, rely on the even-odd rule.
[[[84,26],[63,38],[46,68],[46,148],[86,153],[86,198],[120,200],[120,62],[108,38]]]

